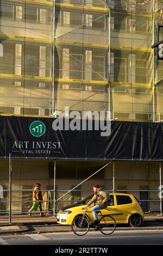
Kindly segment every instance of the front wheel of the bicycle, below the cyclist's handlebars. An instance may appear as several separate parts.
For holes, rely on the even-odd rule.
[[[71,228],[76,235],[85,235],[90,228],[90,223],[86,217],[77,216],[74,218]]]

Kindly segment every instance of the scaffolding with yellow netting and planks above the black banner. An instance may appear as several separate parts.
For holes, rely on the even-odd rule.
[[[162,115],[162,89],[155,85],[162,63],[151,49],[162,22],[160,1],[1,5],[2,115],[52,117],[67,106],[109,111],[118,120]]]

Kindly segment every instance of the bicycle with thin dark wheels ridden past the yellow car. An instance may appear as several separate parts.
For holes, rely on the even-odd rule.
[[[110,211],[109,209],[105,209]],[[90,228],[90,222],[92,221],[91,218],[86,214],[87,209],[85,209],[85,212],[83,216],[76,216],[71,224],[71,228],[74,234],[82,236],[85,235]],[[102,209],[98,210],[98,213],[100,214],[98,217],[99,225],[96,228],[94,225],[95,230],[100,230],[102,234],[104,235],[111,235],[115,229],[116,229],[116,222],[112,216],[103,215]]]

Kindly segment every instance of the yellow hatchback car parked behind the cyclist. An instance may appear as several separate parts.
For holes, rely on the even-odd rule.
[[[78,204],[72,204],[59,210],[57,223],[71,225],[74,217],[83,215],[84,210],[82,208],[90,201],[92,196],[85,198]],[[114,217],[117,224],[129,223],[131,227],[139,227],[144,221],[144,214],[139,200],[133,194],[110,193],[110,199],[107,206],[110,211],[103,209],[103,215],[109,214]],[[94,221],[91,211],[92,206],[87,208],[87,215]]]

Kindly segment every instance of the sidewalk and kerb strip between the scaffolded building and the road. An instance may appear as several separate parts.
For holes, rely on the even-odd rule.
[[[0,216],[0,235],[4,234],[21,234],[21,233],[53,233],[71,231],[71,226],[60,225],[57,218],[53,215],[40,217],[39,215],[12,215],[11,223],[9,216]],[[145,222],[141,227],[132,228],[127,224],[117,224],[117,230],[152,230],[159,229],[163,231],[163,216],[158,214],[145,214]],[[92,229],[93,230],[93,229]]]

